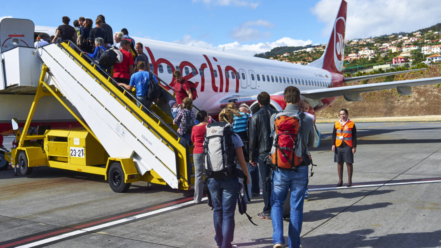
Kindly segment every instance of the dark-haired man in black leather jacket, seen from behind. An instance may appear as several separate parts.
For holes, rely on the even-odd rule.
[[[262,195],[265,205],[262,213],[257,214],[257,216],[259,218],[271,219],[271,204],[269,202],[271,183],[265,181],[266,177],[269,177],[271,169],[265,165],[264,159],[269,155],[271,147],[273,147],[270,117],[273,113],[277,113],[277,110],[271,109],[269,106],[269,94],[265,91],[257,96],[257,101],[260,110],[254,113],[250,119],[250,163],[254,166],[259,166],[262,179]]]

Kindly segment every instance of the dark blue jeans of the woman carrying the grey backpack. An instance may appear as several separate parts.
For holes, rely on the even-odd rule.
[[[231,248],[234,238],[234,211],[236,210],[239,179],[213,179],[208,182],[208,188],[213,201],[213,223],[216,235],[214,240],[217,246]]]

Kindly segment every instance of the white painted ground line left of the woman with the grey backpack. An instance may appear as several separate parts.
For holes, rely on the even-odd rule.
[[[207,197],[202,198],[202,201],[205,201],[205,200],[208,200],[208,198]],[[143,217],[146,217],[146,216],[149,216],[149,215],[162,213],[162,212],[165,212],[165,211],[173,210],[173,209],[176,209],[176,208],[179,208],[179,207],[184,207],[184,206],[191,205],[191,204],[194,204],[193,200],[190,200],[190,201],[188,201],[186,203],[180,203],[180,204],[175,205],[175,206],[166,207],[166,208],[154,210],[154,211],[151,211],[151,212],[147,212],[147,213],[143,213],[143,214],[138,214],[138,215],[127,217],[127,218],[123,218],[123,219],[120,219],[120,220],[104,223],[104,224],[101,224],[101,225],[95,225],[95,226],[92,226],[92,227],[89,227],[89,228],[80,229],[80,230],[77,230],[77,231],[73,231],[71,233],[64,233],[64,234],[61,234],[61,235],[58,235],[58,236],[55,236],[55,237],[50,237],[50,238],[47,238],[47,239],[38,240],[38,241],[29,243],[29,244],[24,244],[22,246],[18,246],[16,248],[30,248],[30,247],[34,247],[34,246],[37,246],[37,245],[47,244],[49,242],[53,242],[53,241],[56,241],[56,240],[64,239],[64,238],[67,238],[67,237],[72,237],[72,236],[75,236],[75,235],[78,235],[78,234],[82,234],[82,233],[86,233],[86,232],[92,232],[93,230],[109,227],[109,226],[112,226],[112,225],[121,224],[121,223],[124,223],[124,222],[130,222],[130,221],[133,221],[133,220],[136,220],[136,219],[139,219],[139,218],[143,218]]]

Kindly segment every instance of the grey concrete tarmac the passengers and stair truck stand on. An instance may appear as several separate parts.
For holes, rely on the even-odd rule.
[[[336,188],[333,123],[317,123],[323,139],[311,149],[317,166],[304,203],[303,248],[441,247],[441,122],[355,124],[353,186]],[[5,137],[5,147],[11,141]],[[114,193],[101,176],[48,167],[18,174],[0,171],[0,248],[216,247],[213,212],[206,201],[194,204],[192,191],[137,182]],[[347,180],[345,166],[343,186]],[[262,195],[247,208],[258,226],[236,210],[233,244],[271,248],[272,223],[257,218]]]

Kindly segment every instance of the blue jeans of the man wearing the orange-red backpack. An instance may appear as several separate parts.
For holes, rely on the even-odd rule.
[[[291,211],[288,227],[288,247],[299,248],[300,232],[303,223],[303,200],[308,184],[308,166],[299,167],[299,171],[279,170],[273,172],[271,180],[271,220],[273,222],[273,243],[284,244],[283,203],[291,191]]]

